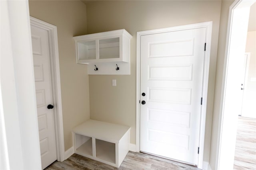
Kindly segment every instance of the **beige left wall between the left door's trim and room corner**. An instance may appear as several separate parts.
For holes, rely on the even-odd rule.
[[[71,130],[90,117],[86,65],[76,64],[73,36],[86,34],[86,5],[81,1],[29,1],[30,16],[56,25],[60,59],[65,150]]]

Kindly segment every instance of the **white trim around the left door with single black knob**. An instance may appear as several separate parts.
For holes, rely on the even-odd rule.
[[[62,119],[62,102],[60,89],[60,64],[58,52],[57,27],[50,23],[38,20],[30,16],[30,25],[45,29],[49,35],[50,68],[52,76],[52,97],[54,104],[54,127],[56,138],[57,160],[62,162],[64,157],[64,133]]]

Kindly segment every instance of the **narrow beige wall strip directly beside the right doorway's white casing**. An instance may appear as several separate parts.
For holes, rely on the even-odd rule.
[[[215,78],[215,92],[214,92],[214,110],[212,115],[212,137],[210,147],[210,166],[212,170],[215,170],[216,162],[216,150],[217,150],[217,139],[218,139],[218,125],[220,115],[220,95],[222,88],[222,77],[223,77],[223,66],[224,56],[226,48],[226,33],[228,27],[228,12],[229,7],[233,3],[233,0],[224,0],[221,4],[220,13],[220,29],[218,39],[218,54],[217,54],[217,67],[216,67],[216,78]]]

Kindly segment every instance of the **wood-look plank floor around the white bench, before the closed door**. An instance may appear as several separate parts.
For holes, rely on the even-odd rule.
[[[143,153],[128,152],[119,168],[73,154],[63,162],[55,161],[45,170],[200,170],[194,166]]]

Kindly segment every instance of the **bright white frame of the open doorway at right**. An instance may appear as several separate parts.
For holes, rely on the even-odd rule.
[[[241,88],[237,77],[241,70],[239,68],[242,68],[242,62],[236,56],[245,53],[250,6],[254,2],[256,0],[238,0],[229,8],[215,162],[219,170],[233,169],[234,165],[238,114],[232,113],[239,106],[234,96]]]

